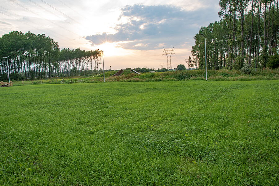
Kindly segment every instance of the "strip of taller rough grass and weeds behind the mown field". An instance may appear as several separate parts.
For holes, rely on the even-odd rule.
[[[112,71],[112,74],[117,70]],[[6,74],[2,74],[5,76]],[[0,77],[1,78],[1,77]],[[82,77],[60,77],[48,80],[27,80],[13,81],[13,86],[32,85],[33,84],[61,84],[69,83],[96,83],[104,82],[103,74],[86,74]],[[208,70],[207,79],[213,81],[251,81],[251,80],[279,80],[279,69],[255,69],[250,74],[241,73],[239,70]],[[149,81],[184,81],[184,80],[205,80],[205,70],[187,70],[180,72],[164,72],[164,73],[131,73],[130,70],[124,70],[121,76],[111,77],[110,71],[105,72],[105,82],[149,82]]]

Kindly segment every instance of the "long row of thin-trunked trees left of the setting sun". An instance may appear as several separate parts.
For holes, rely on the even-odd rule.
[[[8,58],[3,58],[7,57]],[[102,71],[101,52],[62,49],[45,34],[12,31],[0,38],[0,80],[80,76]],[[8,65],[7,65],[8,59]],[[100,66],[100,70],[99,70]]]

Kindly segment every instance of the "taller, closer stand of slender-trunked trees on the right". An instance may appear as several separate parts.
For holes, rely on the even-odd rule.
[[[277,68],[278,0],[220,0],[219,5],[221,20],[194,36],[189,66],[205,69],[207,59],[208,69]]]

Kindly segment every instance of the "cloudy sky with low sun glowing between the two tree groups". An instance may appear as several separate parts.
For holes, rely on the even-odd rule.
[[[0,36],[45,33],[60,49],[104,51],[105,69],[172,68],[191,55],[193,36],[218,21],[219,0],[0,0]],[[186,66],[186,64],[185,64]]]

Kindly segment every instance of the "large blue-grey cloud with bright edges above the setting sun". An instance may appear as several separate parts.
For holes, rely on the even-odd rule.
[[[186,11],[168,5],[142,4],[127,5],[121,9],[114,34],[95,34],[86,36],[92,46],[106,42],[129,41],[121,44],[127,49],[152,50],[166,46],[184,46],[187,38],[193,38],[200,26],[218,19],[218,10],[204,8]],[[206,25],[204,25],[206,26]]]

